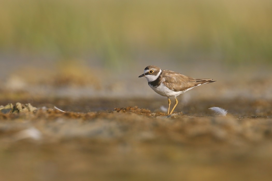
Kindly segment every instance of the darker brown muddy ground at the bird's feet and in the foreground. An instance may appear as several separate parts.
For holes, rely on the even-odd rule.
[[[158,109],[167,99],[31,104],[38,109],[0,113],[0,180],[272,179],[269,100],[202,99],[171,116]]]

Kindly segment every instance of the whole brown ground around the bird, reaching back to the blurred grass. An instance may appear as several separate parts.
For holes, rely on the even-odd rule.
[[[0,105],[37,110],[1,111],[0,180],[271,180],[271,73],[202,65],[182,73],[217,82],[179,96],[171,116],[140,65],[2,72]]]

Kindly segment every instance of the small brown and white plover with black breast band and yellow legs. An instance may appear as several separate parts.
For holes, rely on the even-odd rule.
[[[186,75],[160,69],[157,66],[149,65],[144,69],[144,73],[139,77],[145,77],[148,81],[148,85],[161,96],[168,98],[168,115],[172,114],[178,104],[177,96],[191,90],[202,84],[209,84],[213,79],[195,79]],[[169,97],[175,97],[175,105],[170,112],[171,100]],[[170,112],[170,114],[169,114]]]

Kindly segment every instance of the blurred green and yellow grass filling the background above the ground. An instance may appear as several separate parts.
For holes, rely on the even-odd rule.
[[[271,20],[269,0],[1,0],[0,51],[91,55],[107,66],[156,52],[267,63]]]

